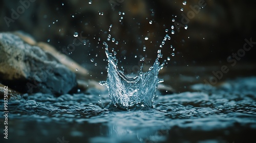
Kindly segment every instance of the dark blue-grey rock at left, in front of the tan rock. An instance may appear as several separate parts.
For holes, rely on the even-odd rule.
[[[20,92],[68,93],[77,86],[76,76],[50,52],[0,33],[0,82]]]

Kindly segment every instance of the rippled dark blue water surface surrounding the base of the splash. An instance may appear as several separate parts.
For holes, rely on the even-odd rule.
[[[256,77],[208,93],[158,95],[153,108],[131,111],[109,106],[108,91],[93,88],[57,98],[24,94],[8,108],[8,142],[244,142],[256,133]]]

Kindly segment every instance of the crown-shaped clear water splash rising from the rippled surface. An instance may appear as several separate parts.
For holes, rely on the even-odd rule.
[[[159,70],[163,68],[164,62],[159,63],[159,54],[153,66],[143,73],[142,66],[140,73],[134,78],[128,78],[123,71],[118,69],[115,55],[109,53],[108,44],[105,45],[105,54],[108,57],[108,78],[106,84],[109,90],[110,101],[113,105],[121,109],[131,109],[135,107],[153,107],[156,89],[162,79],[158,79]]]

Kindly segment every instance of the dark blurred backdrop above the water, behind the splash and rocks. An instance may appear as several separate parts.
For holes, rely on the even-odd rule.
[[[163,78],[180,91],[183,85],[168,81],[178,77],[179,81],[202,82],[222,65],[231,69],[223,79],[255,75],[255,47],[246,52],[236,66],[227,62],[232,53],[243,48],[245,38],[256,41],[253,1],[205,1],[205,7],[189,18],[187,29],[178,29],[176,24],[184,24],[182,15],[193,11],[191,7],[199,5],[197,0],[187,1],[186,5],[183,1],[163,0],[26,2],[29,6],[26,4],[24,12],[18,9],[20,2],[0,2],[0,31],[23,31],[64,54],[72,51],[66,55],[89,69],[92,78],[98,80],[106,79],[105,66],[108,64],[104,61],[103,41],[110,49],[115,49],[119,68],[123,66],[126,74],[138,73],[137,65],[141,65],[142,57],[146,59],[142,62],[145,68],[151,66],[161,49],[163,59],[170,57],[161,71],[165,73]],[[12,18],[13,11],[20,14],[17,19],[8,21],[6,17]],[[78,37],[74,37],[75,32]],[[160,47],[166,34],[171,39]],[[79,37],[82,40],[71,49],[69,45]]]

